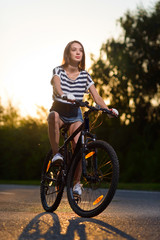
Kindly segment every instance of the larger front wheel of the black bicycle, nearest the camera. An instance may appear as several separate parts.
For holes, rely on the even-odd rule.
[[[82,156],[73,161],[67,179],[67,195],[71,208],[81,217],[94,217],[100,214],[111,202],[119,177],[119,163],[114,149],[104,141],[87,145],[85,162],[87,177],[81,175],[82,195],[75,195],[73,187],[76,169]],[[96,170],[97,169],[97,170]]]

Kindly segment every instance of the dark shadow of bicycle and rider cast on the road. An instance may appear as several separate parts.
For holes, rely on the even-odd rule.
[[[123,239],[127,240],[136,240],[125,232],[98,219],[77,217],[69,219],[68,221],[69,225],[67,227],[67,230],[65,233],[62,233],[63,226],[61,226],[59,218],[55,213],[38,214],[25,227],[22,234],[19,236],[19,240],[74,240],[75,235],[78,237],[78,239],[81,240],[89,239],[89,236],[97,236],[97,239],[99,237],[102,239],[102,236],[104,236],[103,239],[116,239],[117,237],[119,239],[122,237]],[[91,226],[94,224],[94,233],[91,231],[89,235],[87,234],[87,224]],[[97,229],[99,229],[98,234]]]

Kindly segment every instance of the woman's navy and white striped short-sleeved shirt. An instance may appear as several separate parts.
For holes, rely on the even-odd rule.
[[[83,100],[84,93],[94,84],[90,74],[85,70],[82,70],[75,80],[71,80],[61,66],[53,69],[53,76],[55,75],[60,78],[60,85],[64,94],[71,93],[75,96],[76,100],[79,101]],[[51,82],[51,84],[53,83]],[[67,102],[57,98],[55,91],[53,91],[53,100]]]

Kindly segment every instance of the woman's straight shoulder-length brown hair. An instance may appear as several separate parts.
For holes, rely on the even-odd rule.
[[[66,67],[70,63],[70,49],[71,49],[71,45],[73,43],[78,43],[82,47],[83,56],[82,56],[82,60],[80,61],[79,65],[78,65],[78,68],[79,68],[79,70],[85,70],[85,52],[84,52],[84,47],[83,47],[83,45],[79,41],[76,41],[76,40],[69,42],[67,44],[67,46],[65,47],[64,53],[63,53],[62,66]]]

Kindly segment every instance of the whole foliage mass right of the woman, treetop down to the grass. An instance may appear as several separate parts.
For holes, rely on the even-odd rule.
[[[122,34],[92,57],[91,75],[121,122],[106,122],[97,134],[115,147],[121,181],[159,182],[160,1],[148,12],[126,12],[119,23]]]

